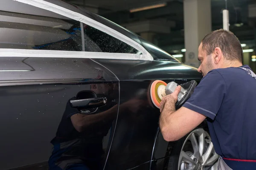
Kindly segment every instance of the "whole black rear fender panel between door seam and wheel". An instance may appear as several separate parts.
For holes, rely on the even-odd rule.
[[[119,113],[106,167],[108,169],[148,169],[151,167],[151,160],[166,156],[169,143],[163,140],[160,143],[157,142],[157,146],[162,147],[155,146],[156,141],[159,141],[160,111],[151,101],[152,82],[160,79],[166,83],[175,81],[182,84],[198,79],[199,74],[195,68],[180,62],[95,60],[108,67],[120,80]],[[131,108],[122,109],[122,106],[127,103]]]

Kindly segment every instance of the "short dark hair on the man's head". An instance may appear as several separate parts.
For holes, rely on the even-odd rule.
[[[218,29],[207,34],[202,40],[202,49],[206,51],[207,55],[212,54],[216,47],[221,48],[223,56],[227,60],[243,61],[243,48],[231,31]]]

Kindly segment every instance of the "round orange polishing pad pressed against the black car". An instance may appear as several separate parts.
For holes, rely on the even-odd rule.
[[[160,108],[160,102],[163,98],[162,91],[165,89],[167,83],[162,80],[155,80],[150,87],[150,97],[153,104]]]

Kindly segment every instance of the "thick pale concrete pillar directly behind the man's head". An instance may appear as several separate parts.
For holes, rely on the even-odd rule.
[[[198,68],[198,46],[212,31],[211,0],[183,0],[185,64]]]

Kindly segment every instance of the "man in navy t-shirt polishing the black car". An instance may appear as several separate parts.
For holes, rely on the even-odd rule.
[[[221,170],[256,168],[256,75],[242,65],[242,57],[232,32],[207,34],[198,48],[203,78],[192,96],[175,111],[178,86],[160,103],[160,129],[166,141],[182,138],[207,119]]]

